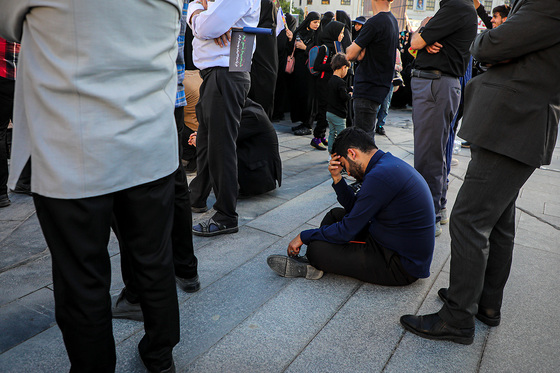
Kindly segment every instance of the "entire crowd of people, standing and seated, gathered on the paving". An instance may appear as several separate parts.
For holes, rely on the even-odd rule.
[[[391,2],[372,0],[373,16],[353,21],[311,11],[298,26],[274,0],[0,0],[0,207],[10,205],[7,186],[32,192],[71,371],[114,371],[112,318],[142,320],[142,362],[175,371],[176,285],[200,289],[192,235],[238,232],[238,197],[281,185],[272,120],[285,112],[294,135],[328,149],[342,208],[270,256],[272,270],[408,285],[429,277],[435,237],[450,223],[444,306],[401,323],[463,344],[475,316],[500,323],[515,200],[556,140],[560,10],[555,0],[516,0],[488,23],[478,0],[445,0],[409,33]],[[489,28],[479,35],[477,13]],[[232,69],[241,37],[253,41],[250,72]],[[471,79],[473,65],[483,73]],[[392,100],[412,104],[414,167],[375,144]],[[461,116],[472,160],[448,217]],[[212,190],[212,216],[193,226]],[[125,283],[113,299],[111,229]]]

